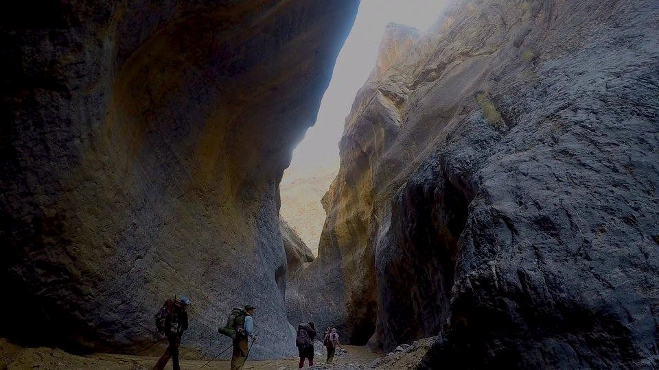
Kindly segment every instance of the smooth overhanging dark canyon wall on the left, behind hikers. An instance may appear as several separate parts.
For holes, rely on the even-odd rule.
[[[218,325],[246,303],[250,357],[290,354],[277,183],[356,8],[7,5],[0,335],[160,351],[153,314],[178,293],[193,302],[189,354],[229,343]]]

